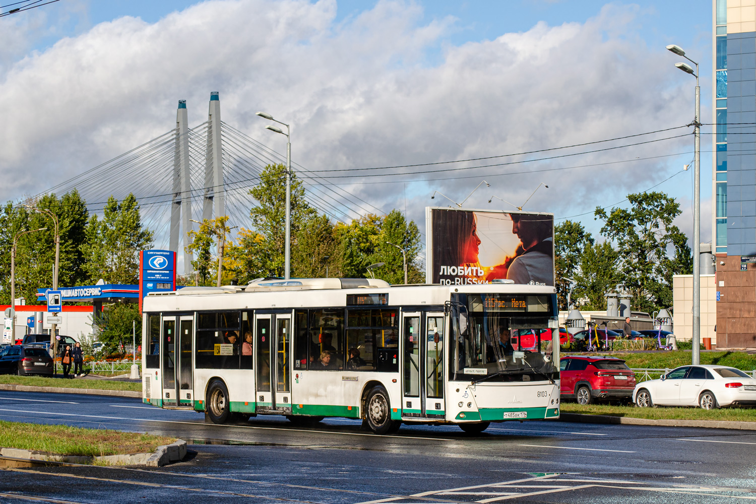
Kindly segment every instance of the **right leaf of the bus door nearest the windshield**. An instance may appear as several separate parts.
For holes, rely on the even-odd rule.
[[[425,314],[423,357],[425,386],[423,387],[423,410],[426,416],[445,415],[444,404],[444,345],[446,342],[446,319],[443,312]]]

